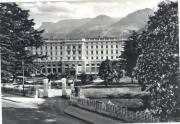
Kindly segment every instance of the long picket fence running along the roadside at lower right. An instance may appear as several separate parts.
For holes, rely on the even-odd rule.
[[[126,107],[90,100],[88,98],[70,96],[70,103],[90,111],[122,119],[126,122],[159,122],[159,119],[153,117],[150,113],[144,111],[133,112],[127,110]]]

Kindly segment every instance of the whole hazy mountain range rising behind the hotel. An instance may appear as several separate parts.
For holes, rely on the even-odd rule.
[[[79,39],[83,37],[128,37],[131,30],[142,30],[149,16],[154,14],[146,8],[128,14],[124,18],[99,15],[95,18],[61,20],[56,23],[42,23],[44,38]]]

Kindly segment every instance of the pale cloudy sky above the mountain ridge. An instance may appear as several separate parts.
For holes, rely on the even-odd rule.
[[[64,19],[94,18],[98,15],[125,17],[140,9],[155,10],[162,0],[64,0],[17,2],[26,10],[30,10],[30,18],[38,28],[42,22],[57,22]]]

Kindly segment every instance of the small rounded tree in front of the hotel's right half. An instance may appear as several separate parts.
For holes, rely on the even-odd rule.
[[[105,81],[106,86],[113,80],[113,67],[112,62],[108,59],[103,61],[99,67],[99,76]]]

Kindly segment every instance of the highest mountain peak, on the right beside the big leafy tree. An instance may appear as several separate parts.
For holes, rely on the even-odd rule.
[[[135,11],[109,26],[106,32],[104,32],[104,35],[117,37],[122,33],[127,35],[131,30],[138,31],[143,29],[148,22],[149,16],[153,14],[154,11],[149,8]]]

